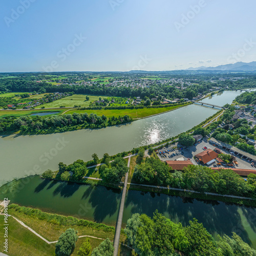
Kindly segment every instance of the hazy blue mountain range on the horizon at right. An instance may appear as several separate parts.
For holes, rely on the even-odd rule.
[[[220,70],[220,71],[256,71],[256,61],[249,63],[236,62],[233,64],[220,65],[217,67],[199,67],[199,68],[188,68],[185,70]]]

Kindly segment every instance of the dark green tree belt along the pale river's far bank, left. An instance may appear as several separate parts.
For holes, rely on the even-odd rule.
[[[21,131],[24,134],[58,133],[77,129],[95,129],[110,125],[131,122],[132,118],[97,116],[96,114],[67,114],[50,117],[21,116],[5,117],[0,119],[0,133],[14,133]]]

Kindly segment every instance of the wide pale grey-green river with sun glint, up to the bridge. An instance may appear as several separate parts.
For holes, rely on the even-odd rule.
[[[188,105],[161,115],[129,124],[98,130],[0,137],[0,185],[13,178],[55,170],[59,162],[70,164],[77,159],[88,161],[92,154],[115,155],[176,136],[201,123],[218,110]]]

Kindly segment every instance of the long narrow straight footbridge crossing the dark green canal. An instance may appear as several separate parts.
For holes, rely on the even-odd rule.
[[[126,196],[126,187],[127,187],[128,176],[129,176],[131,156],[129,156],[129,159],[128,159],[128,164],[127,164],[128,172],[125,174],[122,198],[120,202],[119,214],[118,214],[118,219],[116,224],[116,233],[115,233],[115,239],[114,239],[114,256],[118,255],[118,247],[119,247],[121,226],[122,226],[122,220],[123,220],[123,209],[124,209],[124,202],[125,202],[125,196]]]

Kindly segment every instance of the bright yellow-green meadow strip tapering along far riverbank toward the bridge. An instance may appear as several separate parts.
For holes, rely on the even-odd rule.
[[[105,115],[106,117],[118,117],[118,116],[125,116],[128,115],[132,117],[133,119],[137,118],[143,118],[147,116],[152,116],[156,114],[160,114],[166,111],[174,110],[179,108],[182,105],[177,105],[177,106],[169,106],[167,108],[151,108],[151,109],[126,109],[126,110],[70,110],[66,114],[73,114],[73,113],[88,113],[89,115],[91,113],[94,113],[98,116]]]

